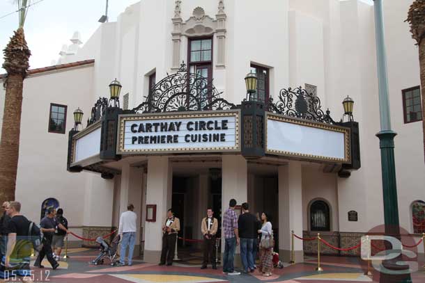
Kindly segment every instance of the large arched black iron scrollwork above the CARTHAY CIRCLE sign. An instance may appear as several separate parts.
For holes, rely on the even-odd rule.
[[[206,111],[236,108],[235,104],[221,98],[222,92],[212,85],[212,80],[187,72],[185,63],[175,74],[159,81],[146,101],[133,108],[136,113],[160,113],[172,111]]]

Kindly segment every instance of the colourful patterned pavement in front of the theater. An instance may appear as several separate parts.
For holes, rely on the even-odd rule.
[[[61,261],[58,270],[51,270],[49,263],[43,261],[44,270],[34,268],[38,280],[45,282],[75,282],[75,283],[321,283],[321,282],[374,282],[371,277],[364,275],[360,259],[355,257],[323,257],[324,271],[317,273],[316,259],[307,257],[303,264],[286,265],[283,269],[275,269],[270,277],[263,277],[261,273],[242,275],[225,275],[220,268],[201,270],[199,264],[179,262],[173,266],[157,266],[134,260],[133,266],[110,266],[105,262],[102,266],[89,264],[97,251],[88,249],[73,249],[68,252],[70,259]],[[423,264],[420,264],[422,266]],[[48,276],[47,276],[48,275]],[[47,278],[46,278],[47,277]],[[425,282],[424,269],[412,275],[415,283]]]

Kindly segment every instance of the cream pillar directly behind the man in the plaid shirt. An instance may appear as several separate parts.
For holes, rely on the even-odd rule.
[[[248,200],[247,160],[241,155],[223,155],[222,157],[222,218],[234,198],[237,205]],[[222,252],[224,252],[224,232],[222,232]],[[239,246],[236,254],[240,254]],[[235,256],[235,266],[241,266],[240,257]]]

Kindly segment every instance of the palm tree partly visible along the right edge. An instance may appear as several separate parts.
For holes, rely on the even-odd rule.
[[[419,66],[421,72],[422,89],[422,132],[424,134],[425,151],[425,0],[415,0],[410,6],[408,19],[412,38],[419,47]]]

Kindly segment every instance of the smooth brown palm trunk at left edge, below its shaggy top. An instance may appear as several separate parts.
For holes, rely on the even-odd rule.
[[[20,74],[8,76],[0,142],[0,202],[15,200],[17,161],[20,149],[22,87]]]

